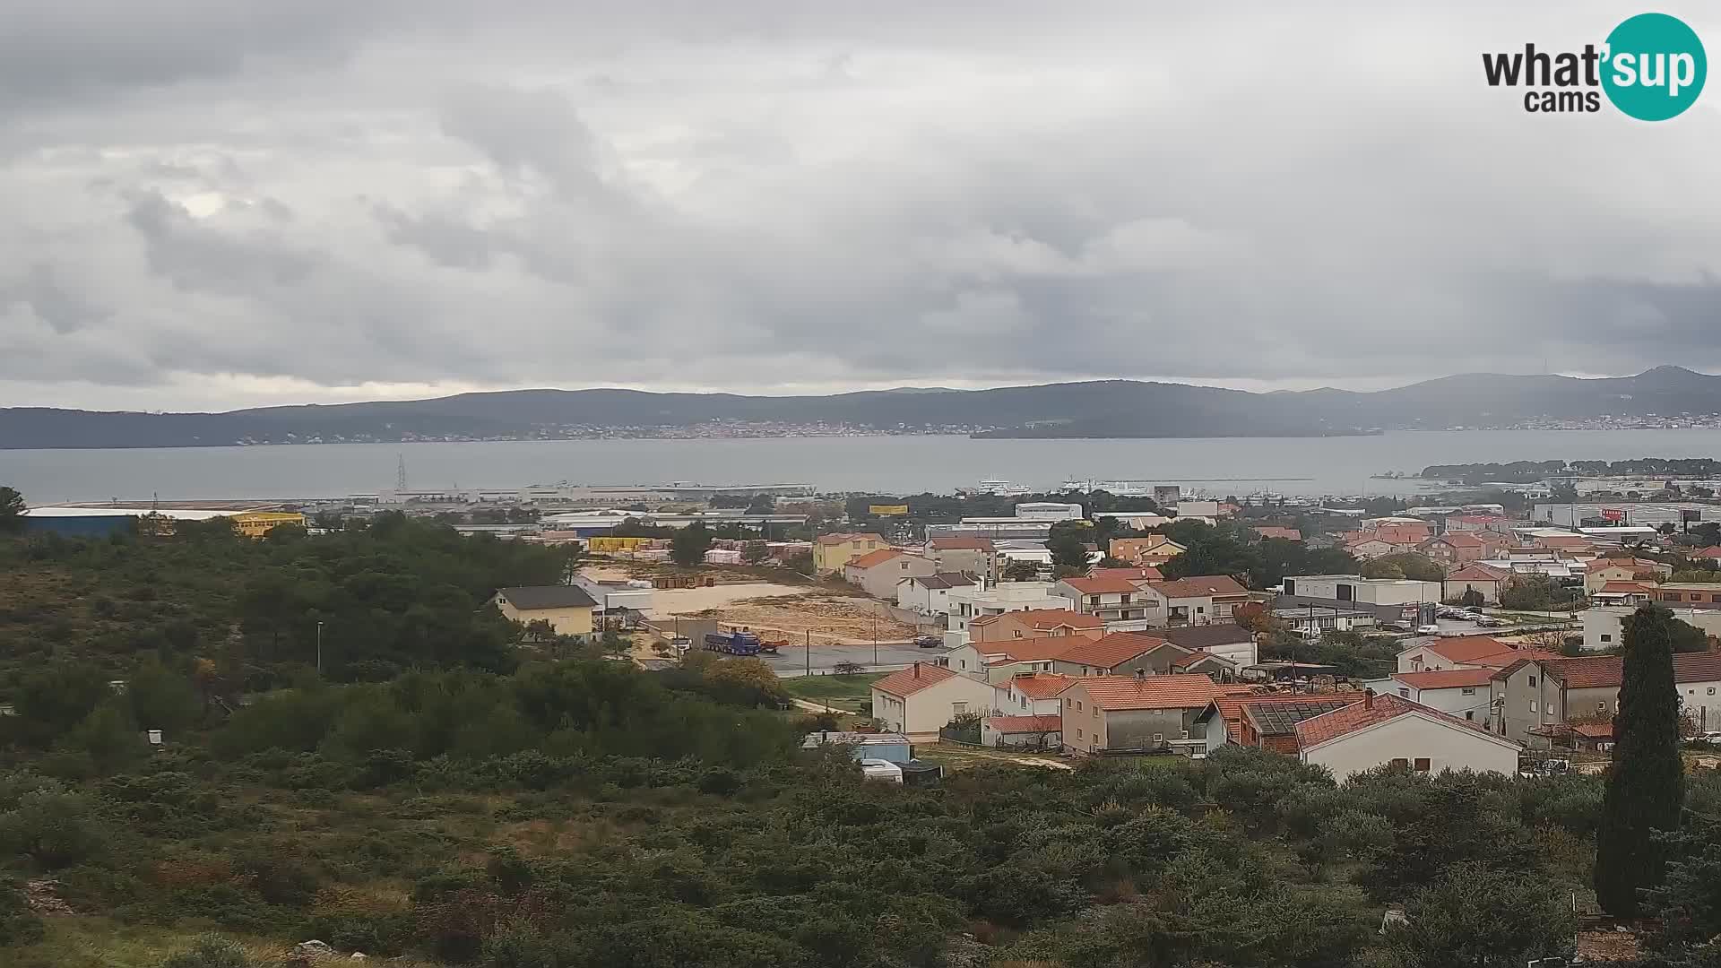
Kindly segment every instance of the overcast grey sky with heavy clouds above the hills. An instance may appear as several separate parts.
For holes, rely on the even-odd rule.
[[[5,7],[0,405],[1721,370],[1721,90],[1482,81],[1647,7]]]

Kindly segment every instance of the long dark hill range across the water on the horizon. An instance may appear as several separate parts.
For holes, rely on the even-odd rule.
[[[1718,413],[1721,377],[1656,367],[1633,377],[1463,374],[1353,393],[1246,393],[1091,381],[998,389],[898,388],[831,396],[520,389],[435,400],[265,406],[225,413],[0,408],[5,448],[688,436],[711,424],[768,432],[845,427],[986,437],[1311,437],[1532,419]]]

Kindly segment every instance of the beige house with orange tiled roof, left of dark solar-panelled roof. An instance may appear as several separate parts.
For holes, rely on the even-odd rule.
[[[1206,706],[1234,687],[1205,675],[1105,675],[1064,691],[1064,749],[1084,756],[1205,749],[1196,725]]]

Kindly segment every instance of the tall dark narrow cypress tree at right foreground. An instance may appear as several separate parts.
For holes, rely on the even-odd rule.
[[[1616,918],[1637,916],[1638,889],[1661,884],[1666,858],[1654,832],[1676,830],[1685,801],[1673,622],[1661,605],[1625,620],[1613,768],[1595,832],[1595,899]]]

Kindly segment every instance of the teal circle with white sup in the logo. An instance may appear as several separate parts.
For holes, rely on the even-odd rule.
[[[1607,34],[1602,90],[1638,121],[1668,121],[1697,102],[1709,76],[1704,41],[1685,21],[1638,14]]]

